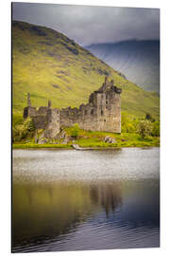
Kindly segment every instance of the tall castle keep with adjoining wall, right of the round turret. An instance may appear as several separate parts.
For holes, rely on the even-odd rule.
[[[88,104],[60,110],[60,126],[78,123],[85,130],[121,133],[120,94],[121,89],[105,80],[101,88],[91,94]]]

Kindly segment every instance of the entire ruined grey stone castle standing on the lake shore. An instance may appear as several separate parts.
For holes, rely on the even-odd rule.
[[[87,104],[79,108],[51,108],[31,106],[30,95],[27,94],[27,106],[24,118],[33,119],[36,129],[44,129],[44,137],[57,137],[60,128],[73,126],[75,123],[84,130],[121,133],[121,92],[113,81],[105,77],[102,86],[94,91]]]

